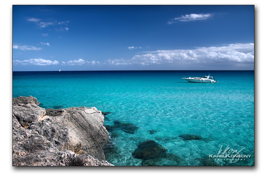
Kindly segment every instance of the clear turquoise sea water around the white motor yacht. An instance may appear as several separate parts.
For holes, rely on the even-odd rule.
[[[219,83],[181,79],[208,74]],[[137,126],[133,134],[120,128],[110,132],[113,147],[104,152],[116,166],[142,165],[132,153],[146,140],[181,159],[160,158],[154,165],[199,166],[208,159],[223,166],[254,165],[254,71],[14,71],[13,97],[30,95],[46,109],[95,106],[111,112],[104,125]],[[185,141],[181,134],[202,139]],[[251,156],[235,163],[209,157],[228,145]]]

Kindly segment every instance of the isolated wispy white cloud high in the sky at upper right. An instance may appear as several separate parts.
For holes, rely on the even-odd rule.
[[[180,17],[176,17],[174,19],[172,19],[172,21],[168,21],[168,24],[173,24],[176,22],[188,22],[188,21],[197,21],[197,20],[206,20],[209,17],[212,17],[213,15],[210,13],[207,14],[185,14],[185,15],[181,15]]]

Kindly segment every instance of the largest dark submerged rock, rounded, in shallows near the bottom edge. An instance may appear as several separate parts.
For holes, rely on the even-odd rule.
[[[139,143],[138,148],[134,150],[132,156],[138,159],[158,158],[166,151],[167,149],[162,147],[160,144],[156,143],[153,140],[148,140]]]

